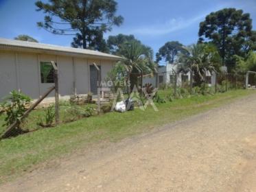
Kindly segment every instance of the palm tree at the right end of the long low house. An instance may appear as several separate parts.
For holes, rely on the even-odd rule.
[[[141,86],[143,75],[153,73],[156,70],[156,64],[152,61],[153,51],[139,40],[131,40],[121,45],[118,54],[124,58],[121,62],[128,68],[130,77],[130,87],[138,86],[138,75],[141,77]]]

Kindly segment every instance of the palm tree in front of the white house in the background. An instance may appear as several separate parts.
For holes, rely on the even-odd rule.
[[[214,45],[200,43],[187,47],[187,51],[179,56],[178,72],[191,69],[197,86],[205,81],[206,71],[220,71],[220,55]]]

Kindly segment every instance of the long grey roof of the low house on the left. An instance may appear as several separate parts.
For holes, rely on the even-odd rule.
[[[102,53],[100,51],[93,51],[89,49],[79,49],[73,47],[63,47],[58,45],[50,45],[50,44],[43,44],[43,43],[35,43],[23,40],[11,40],[6,38],[0,38],[0,49],[25,49],[27,51],[40,51],[43,50],[44,52],[54,52],[54,53],[71,53],[74,55],[80,56],[91,56],[97,58],[109,58],[112,60],[120,60],[121,57],[114,56],[108,53]]]

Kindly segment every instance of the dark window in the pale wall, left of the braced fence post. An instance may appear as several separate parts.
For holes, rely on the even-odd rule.
[[[42,84],[54,83],[54,67],[51,62],[40,62],[40,75]]]

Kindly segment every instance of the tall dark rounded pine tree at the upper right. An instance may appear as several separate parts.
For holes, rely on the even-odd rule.
[[[207,15],[200,23],[199,42],[211,41],[218,47],[222,64],[233,67],[233,55],[243,56],[242,49],[252,36],[250,14],[235,8],[225,8]]]

